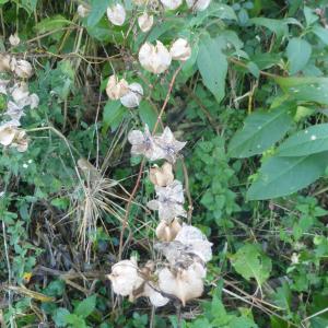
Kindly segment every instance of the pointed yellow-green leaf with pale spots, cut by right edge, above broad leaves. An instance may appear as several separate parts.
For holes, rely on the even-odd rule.
[[[328,78],[276,78],[276,82],[298,102],[328,105]]]

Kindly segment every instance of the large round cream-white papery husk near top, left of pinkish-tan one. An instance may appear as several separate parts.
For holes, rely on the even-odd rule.
[[[172,58],[166,47],[157,40],[155,46],[150,43],[141,46],[139,61],[145,70],[160,74],[168,69]]]

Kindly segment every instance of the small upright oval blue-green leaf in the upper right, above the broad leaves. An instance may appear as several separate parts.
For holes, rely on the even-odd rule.
[[[312,54],[312,47],[305,39],[293,37],[286,47],[286,56],[290,62],[290,73],[295,74],[302,70]]]

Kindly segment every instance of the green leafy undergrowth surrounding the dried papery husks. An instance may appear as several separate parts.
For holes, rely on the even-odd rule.
[[[3,327],[328,326],[326,2],[212,0],[199,13],[185,4],[176,12],[159,8],[144,34],[136,25],[142,10],[128,0],[122,27],[106,19],[109,0],[83,1],[91,8],[85,19],[77,14],[82,1],[0,0],[0,51],[32,62],[30,90],[40,98],[23,119],[28,150],[1,149]],[[14,32],[21,43],[11,47]],[[206,293],[183,309],[180,321],[174,306],[152,316],[144,300],[118,302],[112,293],[105,274],[121,230],[114,215],[102,213],[89,235],[87,260],[75,235],[75,161],[104,164],[103,174],[131,192],[141,160],[130,159],[127,133],[154,126],[179,66],[150,74],[138,49],[179,36],[189,39],[192,56],[163,121],[188,141],[176,175],[191,199],[192,223],[214,244]],[[113,72],[143,84],[138,109],[107,99]],[[136,202],[152,194],[145,173]],[[142,261],[156,219],[132,204],[128,223],[124,257],[134,253]]]

